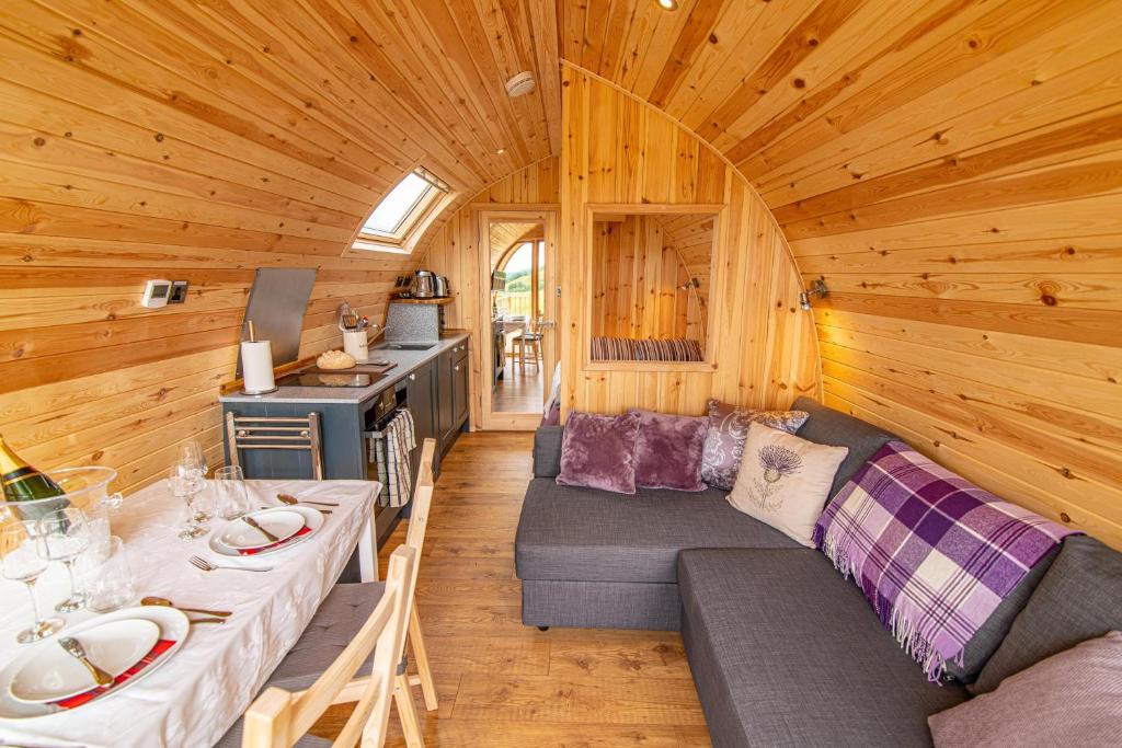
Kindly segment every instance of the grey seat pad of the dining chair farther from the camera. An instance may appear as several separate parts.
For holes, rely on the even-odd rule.
[[[381,582],[335,584],[296,644],[269,675],[265,689],[277,686],[285,691],[303,691],[315,683],[370,618],[385,590],[386,585]],[[365,672],[368,668],[369,659],[359,669]],[[221,748],[240,746],[241,722],[239,719],[214,745]],[[305,735],[296,745],[301,748],[330,746],[331,740]]]

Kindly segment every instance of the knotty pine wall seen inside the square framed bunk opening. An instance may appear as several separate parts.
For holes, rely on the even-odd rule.
[[[592,334],[689,338],[701,341],[703,348],[705,318],[698,294],[682,288],[690,280],[690,269],[662,216],[622,218],[592,225]]]

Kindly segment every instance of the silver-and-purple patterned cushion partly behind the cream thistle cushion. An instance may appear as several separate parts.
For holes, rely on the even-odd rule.
[[[807,422],[804,410],[737,410],[735,406],[709,400],[709,431],[701,459],[701,480],[714,488],[732,491],[744,456],[744,440],[748,425],[763,424],[793,434]]]

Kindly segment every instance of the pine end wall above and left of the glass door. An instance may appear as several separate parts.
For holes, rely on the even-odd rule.
[[[476,330],[480,315],[490,318],[490,307],[484,306],[486,288],[479,288],[479,241],[489,243],[487,232],[480,234],[479,213],[487,207],[558,209],[559,163],[550,157],[531,164],[475,195],[452,215],[429,244],[421,266],[448,276],[454,302],[444,307],[450,327]],[[489,252],[485,256],[489,257]],[[497,261],[497,258],[495,259]],[[478,341],[471,345],[471,423],[481,422],[481,382],[490,382],[489,370],[482,369]]]

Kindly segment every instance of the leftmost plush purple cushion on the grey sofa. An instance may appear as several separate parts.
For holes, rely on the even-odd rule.
[[[635,492],[638,414],[570,413],[561,440],[561,486]]]

